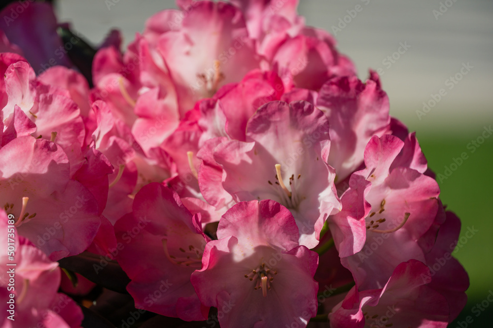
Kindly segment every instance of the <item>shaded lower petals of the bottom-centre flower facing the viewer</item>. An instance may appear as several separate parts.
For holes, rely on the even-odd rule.
[[[318,285],[312,278],[317,254],[304,246],[288,253],[257,246],[238,261],[233,253],[237,241],[231,236],[206,246],[204,266],[191,278],[201,301],[223,311],[219,323],[224,327],[280,327],[292,322],[304,327],[317,311]],[[278,272],[266,297],[254,290],[255,281],[245,278],[262,259]]]

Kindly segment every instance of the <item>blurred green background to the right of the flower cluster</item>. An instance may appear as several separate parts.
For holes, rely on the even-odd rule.
[[[485,121],[489,127],[487,123]],[[493,327],[493,303],[486,300],[489,292],[493,291],[493,174],[490,171],[493,163],[493,136],[486,139],[474,153],[471,154],[471,149],[467,149],[471,140],[476,140],[482,131],[484,126],[466,133],[454,133],[453,130],[448,133],[417,133],[428,167],[437,174],[443,174],[445,166],[450,167],[454,158],[459,158],[462,152],[469,156],[450,177],[442,182],[438,179],[443,204],[448,205],[447,209],[455,212],[462,221],[460,236],[465,236],[467,227],[479,230],[455,254],[469,273],[470,287],[466,307],[456,322],[449,326],[453,328],[461,327],[458,321],[464,327],[467,316],[473,320],[468,327]],[[481,314],[479,308],[473,312],[473,307],[482,302],[489,306]]]

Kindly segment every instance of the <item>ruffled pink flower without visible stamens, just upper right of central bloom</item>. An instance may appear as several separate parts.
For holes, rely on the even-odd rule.
[[[337,77],[326,82],[318,94],[317,107],[330,122],[328,164],[344,180],[363,162],[363,152],[373,135],[388,131],[388,98],[377,73],[370,71],[365,84],[356,76]]]

